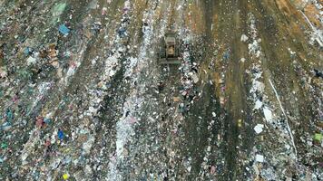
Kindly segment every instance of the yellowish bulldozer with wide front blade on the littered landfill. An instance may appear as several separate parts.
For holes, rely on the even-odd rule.
[[[160,64],[181,64],[181,43],[176,33],[165,33],[159,51]]]

